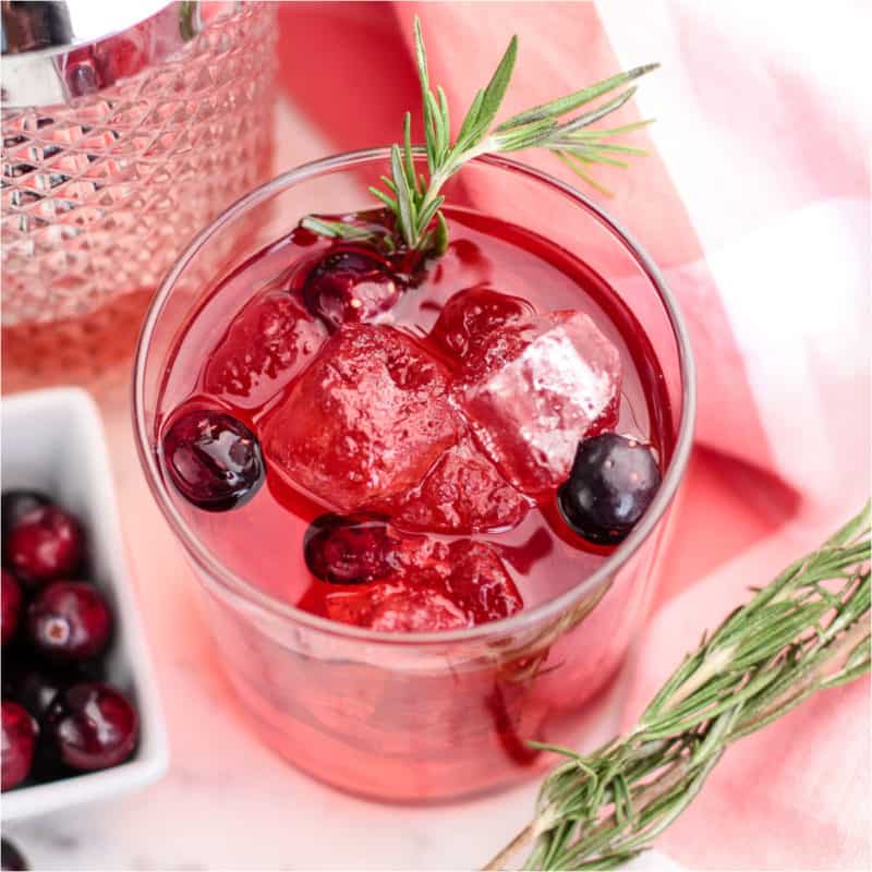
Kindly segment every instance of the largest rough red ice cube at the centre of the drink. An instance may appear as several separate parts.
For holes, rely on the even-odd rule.
[[[443,366],[411,337],[346,324],[270,413],[267,461],[330,508],[383,505],[457,440],[447,390]]]

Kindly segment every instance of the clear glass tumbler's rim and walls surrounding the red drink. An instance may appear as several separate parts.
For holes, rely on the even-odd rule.
[[[585,702],[614,677],[645,615],[690,450],[694,375],[681,316],[639,245],[564,182],[511,160],[480,158],[449,182],[449,202],[475,204],[561,244],[603,276],[643,325],[667,383],[670,408],[663,412],[674,437],[654,502],[592,576],[561,580],[562,592],[545,604],[471,629],[376,632],[310,615],[255,588],[244,564],[231,567],[208,528],[192,523],[162,476],[157,434],[172,405],[169,355],[190,313],[223,277],[306,214],[364,207],[365,184],[387,168],[387,149],[306,165],[250,193],[197,237],[148,313],[134,426],[149,485],[195,568],[220,661],[259,736],[344,790],[445,800],[510,785],[552,762],[526,739],[578,739]]]

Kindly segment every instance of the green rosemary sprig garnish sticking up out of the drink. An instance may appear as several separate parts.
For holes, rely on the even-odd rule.
[[[480,89],[467,112],[457,138],[451,142],[448,100],[441,87],[436,93],[429,86],[427,56],[421,35],[421,22],[414,23],[415,59],[421,81],[424,134],[427,153],[427,177],[416,173],[412,149],[412,114],[405,113],[403,144],[390,152],[390,175],[383,175],[384,189],[372,186],[370,192],[393,213],[396,231],[411,250],[441,254],[448,242],[448,228],[439,209],[445,203],[443,185],[464,164],[485,154],[518,152],[522,148],[546,148],[557,155],[573,172],[604,193],[585,168],[592,164],[626,167],[620,155],[644,155],[644,150],[608,142],[610,137],[651,123],[640,121],[607,130],[586,130],[595,121],[623,106],[635,93],[631,87],[617,97],[567,121],[562,116],[608,94],[628,82],[654,70],[658,64],[637,66],[626,73],[597,82],[566,97],[536,106],[493,126],[514,70],[518,37],[513,36],[502,60],[485,88]],[[385,190],[386,189],[386,190]],[[303,226],[314,232],[335,238],[348,238],[343,228],[349,225],[322,218],[304,218]],[[361,239],[360,233],[355,237]]]

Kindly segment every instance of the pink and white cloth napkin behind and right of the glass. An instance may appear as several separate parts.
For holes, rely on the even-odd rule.
[[[678,294],[699,366],[702,446],[775,531],[658,604],[626,723],[700,633],[859,509],[870,481],[865,84],[869,10],[802,3],[291,3],[282,82],[337,150],[393,142],[431,75],[465,107],[509,37],[505,111],[658,60],[622,119],[652,156],[597,177]],[[312,69],[315,45],[322,62]],[[457,119],[456,113],[456,119]],[[573,180],[547,155],[522,159]],[[589,192],[591,193],[591,192]],[[594,194],[595,196],[595,194]],[[713,517],[712,524],[730,523]],[[676,532],[673,548],[692,548]],[[869,868],[869,683],[736,746],[658,847],[693,868]]]

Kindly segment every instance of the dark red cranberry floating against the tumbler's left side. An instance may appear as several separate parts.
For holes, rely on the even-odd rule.
[[[257,437],[225,412],[181,414],[164,437],[164,457],[179,493],[206,511],[244,506],[264,483]]]

